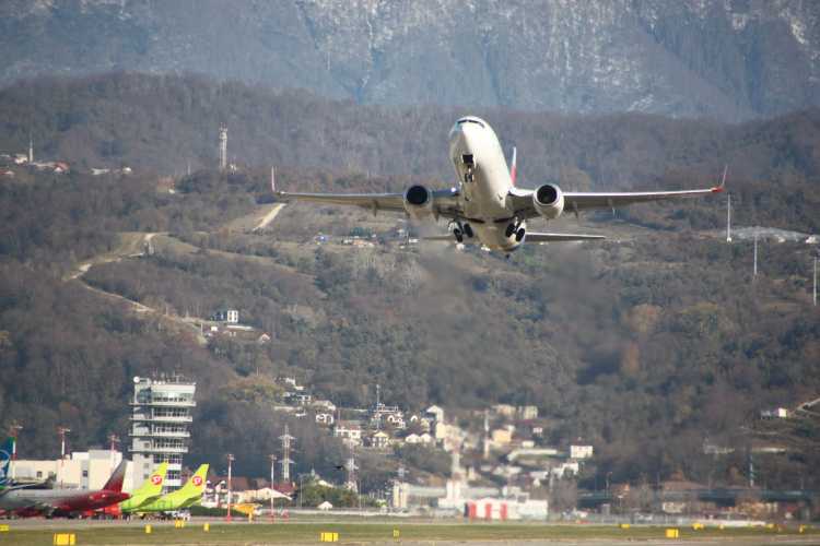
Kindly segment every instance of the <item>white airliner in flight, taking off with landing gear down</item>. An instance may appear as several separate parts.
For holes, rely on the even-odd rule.
[[[661,192],[587,193],[564,192],[553,183],[535,190],[515,187],[516,151],[513,149],[512,168],[507,169],[501,144],[490,124],[475,116],[467,116],[453,126],[449,133],[449,158],[459,179],[456,188],[431,190],[415,183],[403,193],[330,194],[278,191],[271,173],[271,188],[281,199],[316,201],[320,203],[356,205],[371,210],[403,212],[408,217],[423,219],[431,214],[438,221],[449,218],[450,235],[425,237],[426,240],[482,242],[490,250],[509,254],[524,244],[571,240],[594,240],[595,235],[540,234],[528,230],[532,218],[555,219],[563,213],[575,217],[583,211],[609,210],[633,203],[696,198],[721,193],[726,181],[717,188]]]

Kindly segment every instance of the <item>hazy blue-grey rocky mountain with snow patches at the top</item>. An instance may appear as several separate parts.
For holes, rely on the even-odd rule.
[[[194,71],[380,105],[739,121],[820,100],[818,2],[10,0],[0,84]]]

